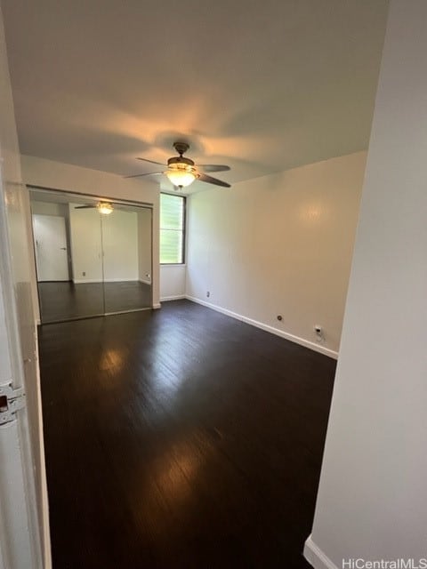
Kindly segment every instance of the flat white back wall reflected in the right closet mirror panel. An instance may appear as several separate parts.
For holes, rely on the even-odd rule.
[[[104,281],[137,281],[139,279],[137,212],[125,212],[115,208],[109,215],[101,216],[101,226]]]

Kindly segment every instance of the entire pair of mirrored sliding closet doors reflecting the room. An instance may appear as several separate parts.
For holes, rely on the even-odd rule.
[[[42,323],[152,307],[148,207],[30,190]]]

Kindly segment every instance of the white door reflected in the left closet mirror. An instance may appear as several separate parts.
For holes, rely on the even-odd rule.
[[[33,215],[38,281],[68,281],[68,251],[65,218]]]

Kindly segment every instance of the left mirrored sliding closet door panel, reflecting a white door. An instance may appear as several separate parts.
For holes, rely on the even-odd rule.
[[[104,313],[96,203],[92,198],[74,203],[59,192],[30,192],[42,324]]]

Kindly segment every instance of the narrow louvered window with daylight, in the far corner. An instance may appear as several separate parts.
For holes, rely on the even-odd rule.
[[[160,194],[160,263],[184,262],[185,197]]]

